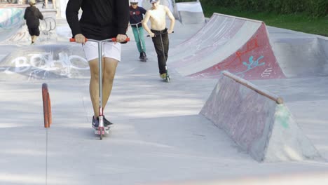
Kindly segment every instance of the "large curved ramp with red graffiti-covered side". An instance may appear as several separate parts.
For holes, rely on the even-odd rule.
[[[219,13],[190,39],[170,48],[168,65],[193,78],[218,78],[224,70],[249,80],[285,78],[264,22]]]

